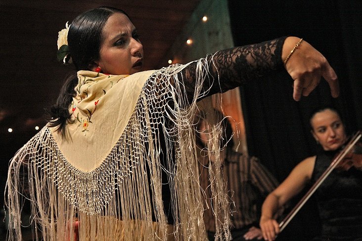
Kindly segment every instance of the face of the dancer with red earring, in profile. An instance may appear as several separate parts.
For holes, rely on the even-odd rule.
[[[142,71],[143,46],[138,40],[136,27],[123,13],[111,15],[103,28],[103,44],[100,47],[96,67],[111,75],[132,75]]]

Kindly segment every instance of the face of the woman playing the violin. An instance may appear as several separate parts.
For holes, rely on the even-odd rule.
[[[347,138],[341,118],[330,109],[316,113],[311,124],[314,138],[325,151],[338,149]]]

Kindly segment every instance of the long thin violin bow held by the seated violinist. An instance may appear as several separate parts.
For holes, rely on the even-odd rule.
[[[351,138],[348,144],[343,148],[343,150],[334,158],[332,163],[328,168],[323,172],[323,174],[317,179],[315,184],[309,189],[309,191],[303,196],[303,198],[294,206],[294,208],[285,216],[283,221],[279,223],[280,232],[288,225],[292,218],[297,214],[297,212],[302,208],[302,206],[309,200],[309,198],[316,192],[317,188],[322,184],[322,182],[327,178],[327,176],[332,172],[332,170],[341,162],[351,148],[360,140],[362,134],[361,131]]]

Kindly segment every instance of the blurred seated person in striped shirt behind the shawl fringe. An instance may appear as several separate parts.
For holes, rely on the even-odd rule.
[[[219,113],[218,116],[222,117]],[[233,138],[230,122],[227,118],[222,121],[222,140],[220,140],[220,159],[226,190],[229,191],[231,216],[231,234],[234,241],[261,240],[262,232],[259,228],[261,204],[264,199],[273,191],[278,182],[271,172],[260,163],[256,157],[248,157],[233,150]],[[197,157],[200,161],[201,186],[205,191],[207,203],[204,212],[205,226],[208,231],[208,238],[215,240],[215,218],[212,214],[213,207],[210,192],[209,162],[215,161],[215,156],[208,154],[208,141],[211,138],[212,130],[209,123],[201,118],[197,124],[196,144]],[[227,145],[226,145],[227,144]]]

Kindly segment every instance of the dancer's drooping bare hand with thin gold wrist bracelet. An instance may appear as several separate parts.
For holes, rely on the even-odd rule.
[[[282,60],[284,61],[300,39],[288,37],[283,45]],[[338,97],[338,78],[325,57],[311,44],[303,40],[289,57],[285,69],[294,80],[293,98],[299,101],[301,95],[308,96],[323,77],[329,84],[333,97]]]

